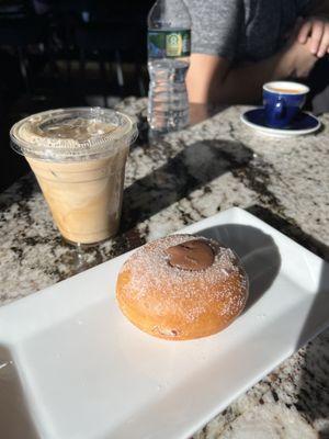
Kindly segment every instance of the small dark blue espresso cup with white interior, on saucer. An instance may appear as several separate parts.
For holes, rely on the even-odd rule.
[[[265,121],[271,128],[285,128],[299,113],[309,88],[298,82],[273,81],[263,86]]]

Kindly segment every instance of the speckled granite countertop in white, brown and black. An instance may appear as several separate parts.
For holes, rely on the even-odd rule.
[[[79,256],[54,228],[33,176],[0,195],[0,303],[8,304],[231,206],[247,209],[329,260],[329,114],[316,135],[274,139],[243,108],[149,144],[145,100],[117,108],[141,133],[126,169],[120,235]],[[18,158],[19,159],[19,158]],[[329,330],[283,362],[194,439],[329,438]]]

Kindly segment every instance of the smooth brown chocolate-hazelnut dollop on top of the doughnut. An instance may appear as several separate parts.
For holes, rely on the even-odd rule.
[[[201,239],[192,239],[166,250],[171,267],[182,270],[205,270],[214,263],[215,255],[212,247]]]

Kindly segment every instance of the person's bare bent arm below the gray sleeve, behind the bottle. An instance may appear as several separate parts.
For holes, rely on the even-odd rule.
[[[270,58],[234,68],[223,57],[192,54],[186,78],[189,99],[195,103],[254,103],[264,82],[305,77],[316,60],[307,44],[298,42],[290,42]]]

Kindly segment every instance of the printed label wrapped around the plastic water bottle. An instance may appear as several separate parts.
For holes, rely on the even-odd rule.
[[[149,31],[149,58],[183,58],[191,55],[191,31]]]

